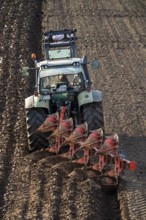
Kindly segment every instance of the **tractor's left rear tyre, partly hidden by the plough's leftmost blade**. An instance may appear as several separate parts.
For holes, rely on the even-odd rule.
[[[47,147],[47,133],[37,133],[36,129],[44,122],[47,112],[42,108],[31,108],[26,110],[26,127],[28,138],[28,149],[34,151]]]

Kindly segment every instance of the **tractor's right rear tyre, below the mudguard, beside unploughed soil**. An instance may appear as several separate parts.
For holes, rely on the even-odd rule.
[[[103,128],[104,118],[102,103],[93,102],[83,106],[83,118],[84,122],[87,122],[89,131]]]

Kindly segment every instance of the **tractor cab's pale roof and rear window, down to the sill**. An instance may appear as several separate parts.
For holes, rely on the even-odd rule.
[[[38,77],[39,93],[44,95],[84,90],[86,76],[80,62],[80,59],[78,59],[78,64],[70,60],[68,63],[62,62],[62,65],[56,63],[54,66],[51,65],[52,62],[48,62],[45,68],[41,65]]]

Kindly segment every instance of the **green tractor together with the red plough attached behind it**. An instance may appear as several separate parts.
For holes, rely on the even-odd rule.
[[[84,164],[96,172],[104,189],[112,189],[136,163],[121,155],[117,134],[105,134],[102,92],[92,88],[87,57],[77,57],[76,32],[45,32],[45,60],[38,62],[32,54],[35,67],[23,68],[24,76],[36,71],[34,94],[25,99],[28,149],[47,148]],[[92,67],[98,66],[94,60]]]

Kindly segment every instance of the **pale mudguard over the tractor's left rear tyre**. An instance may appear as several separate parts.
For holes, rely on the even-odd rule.
[[[29,96],[25,99],[25,109],[46,108],[49,110],[49,99],[43,100],[43,96]]]

